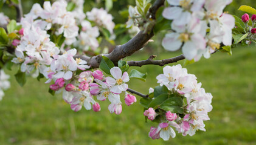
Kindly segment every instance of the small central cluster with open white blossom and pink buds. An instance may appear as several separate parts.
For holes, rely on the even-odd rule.
[[[127,72],[121,71],[118,67],[110,69],[112,77],[103,76],[101,71],[95,71],[94,76],[95,83],[91,83],[89,86],[92,95],[97,96],[98,100],[105,101],[106,98],[111,102],[108,109],[111,113],[115,112],[117,115],[122,112],[122,102],[120,101],[120,94],[128,89],[126,84],[130,79]],[[130,106],[136,102],[134,95],[125,92],[125,103]]]

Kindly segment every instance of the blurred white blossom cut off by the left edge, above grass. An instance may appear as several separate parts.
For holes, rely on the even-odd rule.
[[[9,75],[5,74],[3,70],[0,70],[0,101],[4,97],[4,90],[10,88],[9,78]]]

